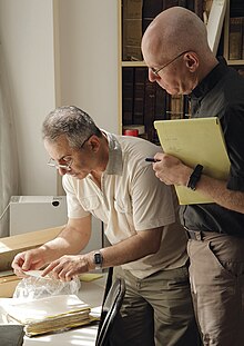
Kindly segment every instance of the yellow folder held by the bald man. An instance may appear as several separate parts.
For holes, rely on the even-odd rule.
[[[203,174],[226,180],[230,171],[220,119],[193,118],[154,121],[163,151],[194,168],[202,165]],[[175,186],[181,205],[213,202],[211,198],[184,186]]]

